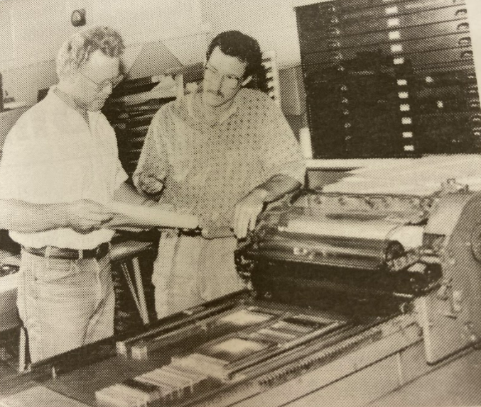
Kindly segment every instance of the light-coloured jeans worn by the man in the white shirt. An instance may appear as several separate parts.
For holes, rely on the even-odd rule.
[[[114,335],[110,258],[63,260],[22,250],[17,306],[32,362]]]

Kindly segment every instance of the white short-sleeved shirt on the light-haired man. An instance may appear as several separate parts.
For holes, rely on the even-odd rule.
[[[112,200],[128,176],[121,167],[114,129],[100,112],[89,124],[50,89],[7,135],[0,162],[0,197],[34,204]],[[108,242],[113,230],[80,234],[70,228],[40,233],[10,232],[24,246],[88,250]]]

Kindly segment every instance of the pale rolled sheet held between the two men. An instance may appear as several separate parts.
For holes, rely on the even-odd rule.
[[[111,202],[107,205],[117,214],[107,223],[108,228],[180,228],[195,229],[199,225],[197,216],[168,211],[164,206],[141,206]]]

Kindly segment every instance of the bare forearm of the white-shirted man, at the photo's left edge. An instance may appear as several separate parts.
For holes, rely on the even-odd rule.
[[[18,199],[0,200],[0,228],[36,233],[67,227],[68,204],[31,204]]]

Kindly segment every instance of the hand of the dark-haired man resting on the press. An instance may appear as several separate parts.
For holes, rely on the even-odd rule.
[[[248,230],[253,230],[257,216],[264,208],[264,200],[268,192],[265,189],[254,189],[249,195],[245,196],[234,209],[234,235],[238,239],[245,238]]]

